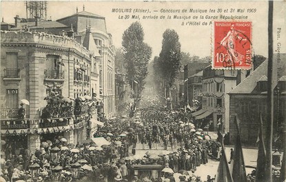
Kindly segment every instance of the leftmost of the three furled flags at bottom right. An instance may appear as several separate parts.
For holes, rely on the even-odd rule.
[[[227,156],[225,156],[225,145],[222,142],[221,160],[218,164],[218,171],[216,172],[215,182],[233,182],[232,174],[230,174],[229,166],[227,164]]]

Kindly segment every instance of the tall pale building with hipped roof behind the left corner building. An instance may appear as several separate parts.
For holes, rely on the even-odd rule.
[[[90,26],[92,39],[99,50],[101,57],[96,57],[99,61],[99,92],[96,94],[103,99],[103,112],[109,118],[115,114],[115,72],[114,54],[115,48],[112,43],[112,35],[108,33],[105,24],[105,17],[91,12],[77,12],[68,17],[57,20],[65,26],[71,26],[74,30],[74,38],[82,43],[86,34],[86,27]],[[97,85],[96,85],[97,87]]]

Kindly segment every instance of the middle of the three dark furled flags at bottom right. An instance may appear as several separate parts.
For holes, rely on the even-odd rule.
[[[241,132],[238,127],[238,121],[236,116],[234,117],[234,123],[236,124],[236,143],[234,145],[234,166],[232,168],[232,178],[234,182],[247,181],[245,163],[243,159],[243,148],[241,146]]]

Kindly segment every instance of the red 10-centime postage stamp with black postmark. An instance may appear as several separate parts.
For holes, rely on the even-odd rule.
[[[214,21],[212,68],[252,68],[252,22]]]

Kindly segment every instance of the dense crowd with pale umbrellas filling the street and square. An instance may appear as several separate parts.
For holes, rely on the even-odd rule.
[[[146,110],[136,112],[133,119],[116,117],[105,121],[94,137],[104,137],[110,145],[96,146],[89,139],[74,146],[65,141],[43,141],[36,152],[21,150],[18,156],[1,153],[1,177],[6,181],[32,181],[29,166],[37,163],[40,168],[37,181],[53,181],[53,170],[61,170],[60,181],[174,181],[174,173],[181,173],[180,181],[202,181],[194,176],[200,165],[208,162],[209,156],[219,159],[221,145],[211,140],[201,129],[196,129],[181,111]],[[141,144],[140,146],[139,143]],[[156,150],[162,150],[160,154]],[[51,159],[51,151],[59,148],[59,159]],[[142,149],[141,149],[142,148]],[[76,150],[74,150],[76,149]],[[154,150],[136,158],[136,150]],[[79,163],[78,178],[74,178],[73,165]],[[173,173],[163,174],[165,179],[142,178],[132,171],[132,165],[158,164],[171,168]],[[190,178],[182,171],[190,171]],[[212,181],[210,176],[207,181]]]

